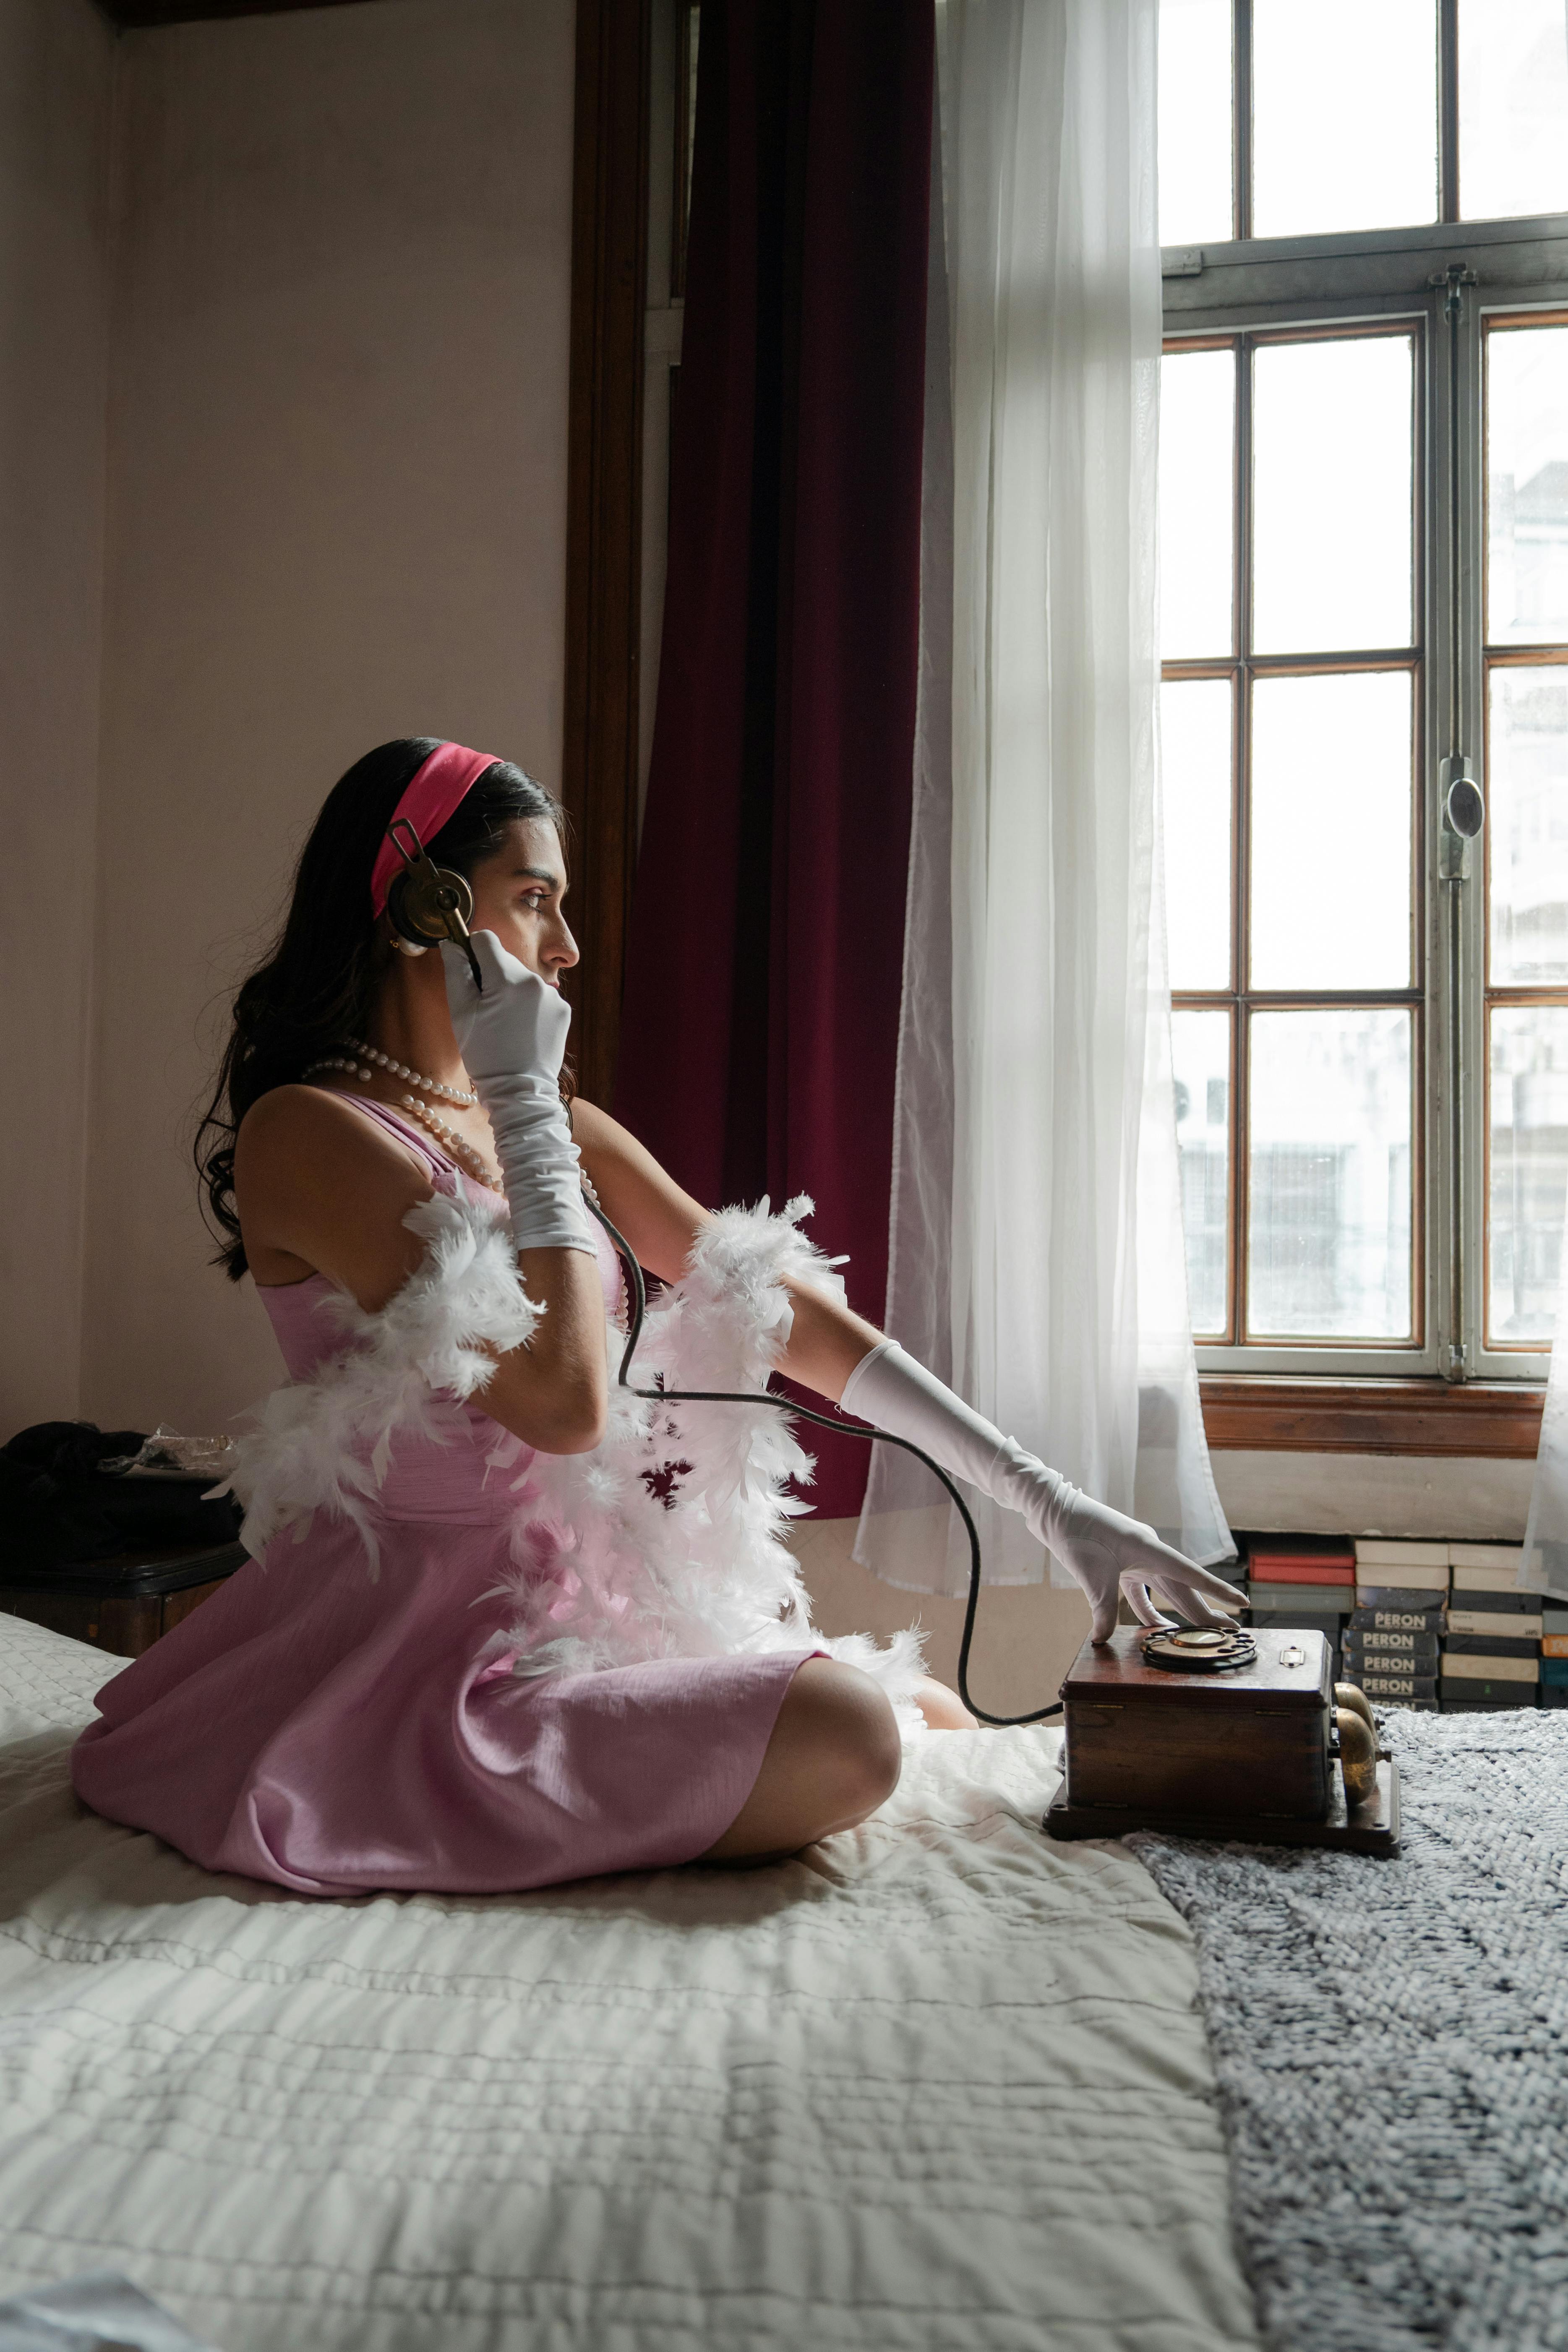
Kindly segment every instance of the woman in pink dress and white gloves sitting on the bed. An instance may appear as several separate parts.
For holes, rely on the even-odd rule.
[[[397,821],[468,877],[482,990],[388,917]],[[1119,1590],[1145,1623],[1150,1588],[1199,1623],[1229,1597],[853,1315],[806,1200],[710,1214],[564,1098],[564,894],[562,811],[522,769],[383,743],[237,993],[197,1155],[289,1369],[235,1444],[254,1557],[73,1755],[89,1806],[212,1870],[473,1893],[792,1853],[886,1799],[900,1726],[971,1722],[917,1635],[813,1632],[783,1414],[611,1385],[623,1277],[585,1195],[668,1284],[637,1388],[783,1371],[912,1437],[1025,1512],[1095,1639]]]

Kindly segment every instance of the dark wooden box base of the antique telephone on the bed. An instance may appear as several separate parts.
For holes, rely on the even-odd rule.
[[[1324,1635],[1255,1625],[1239,1646],[1253,1649],[1248,1663],[1168,1670],[1147,1661],[1135,1625],[1098,1649],[1084,1644],[1063,1682],[1065,1778],[1046,1813],[1053,1837],[1159,1828],[1359,1853],[1399,1849],[1399,1778],[1387,1757],[1375,1757],[1373,1773],[1366,1755],[1363,1795],[1347,1802]],[[1368,1738],[1361,1717],[1347,1740],[1352,1731]]]

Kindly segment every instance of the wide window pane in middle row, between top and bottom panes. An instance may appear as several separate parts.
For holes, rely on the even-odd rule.
[[[1410,985],[1410,673],[1253,684],[1253,988]]]

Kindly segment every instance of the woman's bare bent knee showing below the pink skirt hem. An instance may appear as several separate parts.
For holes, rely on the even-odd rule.
[[[853,1830],[898,1788],[893,1710],[858,1665],[806,1658],[783,1696],[757,1783],[705,1863],[799,1853]]]

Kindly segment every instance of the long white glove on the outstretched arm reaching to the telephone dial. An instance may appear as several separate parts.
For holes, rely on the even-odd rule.
[[[1091,1501],[1034,1454],[1004,1437],[961,1397],[917,1364],[898,1341],[882,1341],[844,1383],[842,1406],[922,1446],[950,1477],[969,1479],[992,1503],[1016,1510],[1053,1552],[1093,1609],[1093,1642],[1110,1642],[1126,1592],[1140,1625],[1168,1625],[1154,1595],[1192,1625],[1229,1625],[1234,1588],[1182,1559],[1152,1526]],[[1218,1602],[1220,1606],[1211,1606]],[[1225,1609],[1229,1604],[1229,1609]]]

